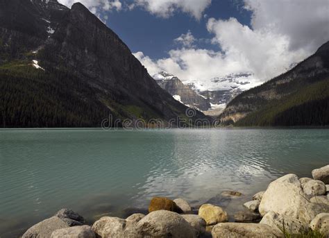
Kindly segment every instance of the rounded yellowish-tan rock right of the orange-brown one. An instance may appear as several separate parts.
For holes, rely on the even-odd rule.
[[[199,216],[205,220],[207,225],[228,221],[228,214],[221,207],[212,204],[201,205],[199,208]]]

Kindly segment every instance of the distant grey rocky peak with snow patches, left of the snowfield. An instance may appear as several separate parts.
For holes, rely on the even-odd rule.
[[[194,90],[184,85],[176,76],[161,71],[155,74],[153,78],[163,90],[169,92],[169,94],[174,96],[174,99],[184,103],[188,107],[197,108],[201,111],[206,111],[211,108],[209,99],[196,94]]]

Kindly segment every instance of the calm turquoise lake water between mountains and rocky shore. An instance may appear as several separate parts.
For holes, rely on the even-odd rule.
[[[271,180],[328,163],[324,129],[0,130],[0,237],[62,207],[92,222],[147,209],[153,196],[232,216]]]

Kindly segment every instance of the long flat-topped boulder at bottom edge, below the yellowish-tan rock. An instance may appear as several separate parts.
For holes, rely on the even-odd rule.
[[[256,223],[219,223],[212,228],[213,238],[277,238],[280,237],[270,226]]]

